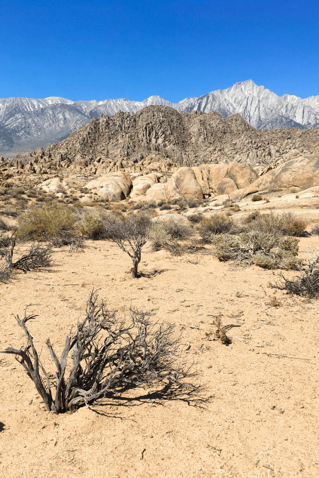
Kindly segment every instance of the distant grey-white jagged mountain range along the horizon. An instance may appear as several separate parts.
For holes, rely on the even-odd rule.
[[[59,97],[44,100],[0,99],[0,151],[32,150],[61,141],[92,118],[118,111],[135,113],[149,105],[171,106],[182,111],[218,111],[224,118],[240,115],[256,129],[319,127],[319,96],[301,99],[281,97],[252,80],[216,90],[200,98],[171,103],[159,96],[144,101],[127,99],[71,101]]]

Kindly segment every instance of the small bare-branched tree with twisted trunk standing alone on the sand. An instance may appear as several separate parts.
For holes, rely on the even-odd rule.
[[[137,277],[138,264],[141,261],[142,247],[151,232],[151,216],[143,212],[125,217],[109,215],[106,218],[104,237],[115,242],[122,251],[133,260],[132,277]]]

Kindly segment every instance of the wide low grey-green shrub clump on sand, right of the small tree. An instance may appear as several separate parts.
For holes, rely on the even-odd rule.
[[[256,264],[265,269],[302,267],[298,259],[298,239],[285,238],[265,231],[251,230],[238,237],[222,234],[213,238],[215,255],[221,261],[233,260],[240,265]]]

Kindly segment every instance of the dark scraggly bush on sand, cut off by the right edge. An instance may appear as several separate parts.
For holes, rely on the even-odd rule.
[[[288,294],[296,294],[309,298],[318,298],[319,296],[319,256],[311,259],[307,268],[304,269],[300,276],[286,279],[281,274],[282,281],[270,284],[269,287],[286,290]]]

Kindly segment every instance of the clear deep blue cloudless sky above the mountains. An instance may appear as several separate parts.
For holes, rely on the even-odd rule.
[[[319,95],[319,1],[0,0],[0,97]]]

